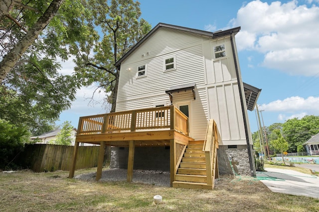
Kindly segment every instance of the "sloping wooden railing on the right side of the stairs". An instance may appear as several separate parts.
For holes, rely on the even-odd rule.
[[[205,152],[206,159],[206,176],[207,185],[211,185],[214,188],[215,168],[217,165],[217,148],[220,141],[217,125],[213,119],[208,121],[207,131],[203,145],[203,151]]]

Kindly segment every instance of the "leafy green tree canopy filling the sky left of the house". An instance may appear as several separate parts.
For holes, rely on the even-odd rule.
[[[150,24],[140,19],[140,3],[133,0],[15,2],[0,13],[1,69],[5,57],[16,46],[24,43],[28,48],[11,71],[3,75],[0,70],[3,76],[0,101],[5,111],[0,118],[12,123],[32,123],[33,135],[40,135],[52,128],[61,111],[70,107],[78,88],[93,83],[110,93],[106,101],[114,111],[120,73],[114,64],[151,30]],[[45,29],[40,29],[38,36],[27,43],[25,36],[52,3],[62,4],[58,11],[51,11],[54,16]],[[59,62],[70,57],[75,57],[74,72],[59,73]],[[41,127],[45,131],[39,130]]]

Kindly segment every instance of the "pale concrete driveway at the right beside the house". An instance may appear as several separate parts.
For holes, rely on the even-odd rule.
[[[257,177],[272,192],[319,199],[319,177],[288,169],[265,170],[266,172],[257,172]]]

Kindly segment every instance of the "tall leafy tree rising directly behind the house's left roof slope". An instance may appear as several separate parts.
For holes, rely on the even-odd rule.
[[[115,111],[119,67],[115,63],[150,30],[151,25],[141,16],[140,3],[134,0],[88,0],[86,8],[94,27],[91,36],[78,43],[70,43],[76,56],[76,68],[85,85],[98,83],[108,93],[106,102]]]

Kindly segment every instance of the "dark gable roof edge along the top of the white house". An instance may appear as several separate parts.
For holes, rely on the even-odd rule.
[[[146,41],[154,32],[156,32],[160,28],[170,28],[170,29],[176,29],[176,30],[181,30],[181,31],[186,31],[189,33],[197,34],[197,35],[202,35],[210,38],[218,38],[218,37],[223,37],[226,35],[230,35],[234,33],[235,35],[239,32],[240,27],[232,28],[232,29],[227,29],[227,30],[218,30],[216,32],[208,32],[204,30],[199,30],[199,29],[192,29],[192,28],[187,28],[183,26],[176,26],[176,25],[171,25],[171,24],[166,24],[166,23],[158,23],[142,40],[140,40],[136,45],[132,47],[118,62],[116,62],[115,66],[119,67],[121,63],[131,54],[133,53],[139,46],[141,46],[144,41]]]

